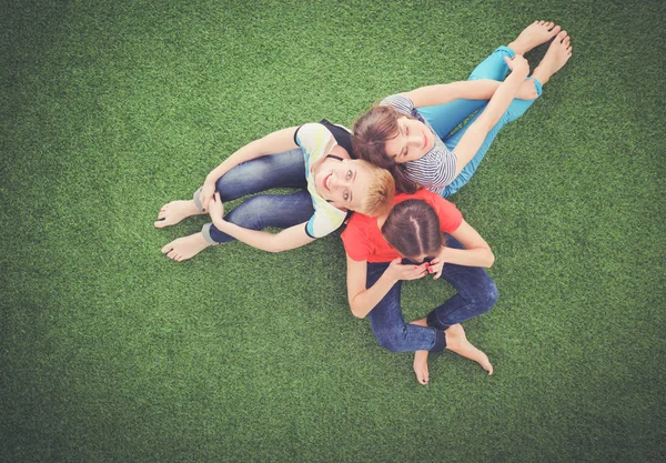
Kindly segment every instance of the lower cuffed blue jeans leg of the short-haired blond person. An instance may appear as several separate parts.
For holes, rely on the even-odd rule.
[[[266,227],[287,229],[307,222],[312,214],[314,214],[312,197],[307,191],[297,191],[292,194],[260,194],[249,198],[228,213],[224,220],[250,230],[262,230]],[[201,231],[210,244],[235,240],[222,233],[212,223],[203,225]]]

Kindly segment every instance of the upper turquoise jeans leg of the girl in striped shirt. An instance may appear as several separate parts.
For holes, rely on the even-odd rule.
[[[514,56],[513,50],[507,47],[497,48],[474,68],[467,80],[504,80],[508,73],[504,57],[513,58]],[[418,112],[430,122],[437,135],[444,139],[453,129],[486,103],[487,100],[460,99],[446,104],[418,108]]]

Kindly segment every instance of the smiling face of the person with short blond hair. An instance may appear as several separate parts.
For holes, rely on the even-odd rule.
[[[342,210],[360,210],[367,194],[371,174],[363,161],[326,159],[315,171],[316,192]]]

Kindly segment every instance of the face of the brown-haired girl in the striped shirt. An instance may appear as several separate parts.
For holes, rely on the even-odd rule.
[[[386,154],[396,163],[422,158],[434,145],[433,132],[421,121],[402,117],[397,134],[386,142]]]

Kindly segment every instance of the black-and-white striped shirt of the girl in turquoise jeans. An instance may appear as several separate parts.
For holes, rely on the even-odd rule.
[[[446,148],[437,133],[425,118],[418,113],[414,102],[402,94],[386,97],[380,103],[382,107],[393,107],[398,112],[423,122],[434,134],[435,144],[423,157],[405,163],[407,179],[416,182],[437,194],[455,179],[457,158]]]

